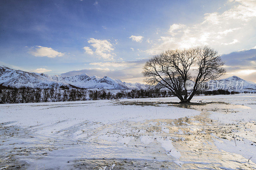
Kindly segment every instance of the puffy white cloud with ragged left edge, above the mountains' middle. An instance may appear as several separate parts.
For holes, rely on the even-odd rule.
[[[115,53],[111,53],[114,50],[113,45],[108,40],[97,40],[94,38],[90,38],[88,40],[90,45],[95,48],[93,52],[90,47],[84,47],[86,53],[91,55],[97,55],[98,57],[105,59],[105,60],[113,60],[113,56],[116,55]]]

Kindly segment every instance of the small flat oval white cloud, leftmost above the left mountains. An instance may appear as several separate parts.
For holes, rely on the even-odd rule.
[[[64,56],[64,53],[60,53],[52,48],[42,47],[42,46],[32,47],[30,48],[28,53],[37,57],[55,58],[55,57]]]

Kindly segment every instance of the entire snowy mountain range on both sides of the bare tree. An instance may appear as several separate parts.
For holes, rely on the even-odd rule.
[[[231,83],[230,83],[231,82]],[[241,86],[241,82],[243,82]],[[75,88],[86,88],[86,89],[147,89],[148,85],[141,83],[126,83],[119,79],[97,76],[88,76],[86,73],[70,76],[61,77],[60,75],[49,76],[43,73],[26,72],[22,70],[13,70],[6,66],[0,66],[0,85],[10,87],[30,87],[30,88],[54,88],[68,86]],[[212,89],[218,89],[219,87],[228,89],[256,89],[256,83],[244,80],[237,76],[232,76],[225,79],[214,81]],[[230,88],[229,88],[230,87]]]

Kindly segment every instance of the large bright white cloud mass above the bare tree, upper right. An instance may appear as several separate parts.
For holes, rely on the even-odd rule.
[[[226,11],[216,9],[205,13],[200,23],[173,23],[166,33],[159,34],[158,43],[145,52],[155,55],[166,49],[209,45],[221,54],[227,54],[248,48],[255,43],[252,35],[255,34],[256,1],[229,0],[226,4]]]

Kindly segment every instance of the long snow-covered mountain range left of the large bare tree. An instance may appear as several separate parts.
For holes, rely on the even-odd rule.
[[[30,73],[22,70],[13,70],[0,66],[0,85],[31,88],[52,88],[64,86],[76,86],[80,88],[99,89],[147,89],[148,86],[140,83],[125,83],[119,79],[109,77],[99,78],[88,76],[86,73],[72,77],[60,75],[49,76],[43,73]]]

